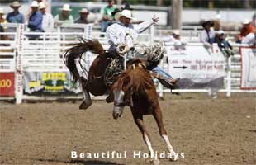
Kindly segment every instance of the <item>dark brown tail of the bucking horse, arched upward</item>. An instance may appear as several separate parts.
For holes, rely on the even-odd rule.
[[[82,55],[87,51],[91,51],[94,54],[104,53],[102,45],[98,40],[85,40],[80,38],[80,43],[74,44],[74,46],[67,50],[64,54],[64,64],[67,66],[67,68],[69,68],[69,72],[71,73],[72,81],[74,83],[78,82],[80,78],[76,65],[76,59],[78,60],[80,67],[83,69],[83,72],[88,73],[88,70],[84,68],[81,63]]]

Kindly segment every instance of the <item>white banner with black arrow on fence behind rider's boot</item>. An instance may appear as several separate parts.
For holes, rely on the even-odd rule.
[[[181,78],[178,87],[203,89],[224,87],[226,59],[217,45],[170,45],[167,47],[168,71]]]

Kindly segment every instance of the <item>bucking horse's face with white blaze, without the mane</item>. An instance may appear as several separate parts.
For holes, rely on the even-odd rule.
[[[129,74],[125,72],[120,75],[117,82],[111,87],[114,94],[114,108],[112,114],[114,119],[121,117],[125,106],[130,101],[131,84],[131,78]]]

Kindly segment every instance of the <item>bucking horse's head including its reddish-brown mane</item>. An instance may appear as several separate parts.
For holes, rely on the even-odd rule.
[[[126,105],[132,106],[133,94],[145,94],[145,89],[154,87],[154,82],[140,59],[127,62],[127,69],[112,85],[114,94],[113,118],[121,117]]]

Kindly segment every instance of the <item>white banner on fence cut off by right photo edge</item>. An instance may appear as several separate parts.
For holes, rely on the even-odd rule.
[[[256,89],[256,48],[241,47],[241,89]]]

